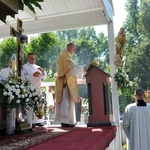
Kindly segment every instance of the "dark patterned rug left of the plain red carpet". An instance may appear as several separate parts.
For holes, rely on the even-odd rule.
[[[0,150],[23,150],[73,130],[74,128],[36,127],[29,133],[0,135]]]

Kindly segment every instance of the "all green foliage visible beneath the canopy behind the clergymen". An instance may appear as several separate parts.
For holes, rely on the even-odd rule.
[[[87,33],[87,34],[86,34]],[[109,64],[108,39],[104,34],[98,36],[94,28],[81,28],[66,31],[42,33],[32,37],[24,46],[24,63],[29,52],[36,54],[36,64],[44,68],[48,77],[44,81],[54,81],[56,62],[69,42],[77,45],[73,60],[79,65],[88,65],[98,60],[102,69]],[[16,38],[5,39],[0,43],[0,68],[8,66],[13,53],[17,53]]]

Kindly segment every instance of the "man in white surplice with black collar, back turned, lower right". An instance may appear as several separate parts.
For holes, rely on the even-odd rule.
[[[134,95],[136,102],[127,105],[123,115],[127,150],[150,150],[150,104],[144,101],[144,90],[137,89]]]

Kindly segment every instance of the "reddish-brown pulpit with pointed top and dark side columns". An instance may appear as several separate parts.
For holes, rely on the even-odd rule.
[[[89,99],[88,127],[111,126],[110,75],[93,66],[86,74]]]

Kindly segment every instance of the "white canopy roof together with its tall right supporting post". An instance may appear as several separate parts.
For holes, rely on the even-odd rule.
[[[35,8],[36,14],[25,7],[19,11],[16,19],[23,21],[25,34],[58,31],[79,27],[107,24],[110,72],[113,77],[116,72],[114,65],[114,28],[113,28],[113,4],[112,0],[44,0],[41,3],[43,10]],[[0,22],[0,38],[10,36],[10,26],[16,28],[16,19],[7,17],[7,25]],[[117,83],[112,78],[112,100],[114,123],[118,125],[115,149],[121,149],[121,130],[119,119],[119,99]]]

